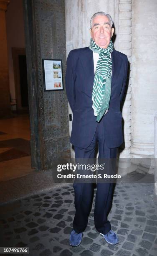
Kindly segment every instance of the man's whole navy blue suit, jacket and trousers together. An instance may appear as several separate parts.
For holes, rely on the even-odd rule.
[[[119,51],[111,53],[112,76],[111,98],[108,112],[96,122],[92,108],[94,84],[93,51],[89,47],[70,51],[66,69],[66,93],[73,111],[70,142],[75,149],[76,159],[94,159],[96,142],[99,145],[99,160],[116,158],[117,148],[123,142],[122,113],[120,103],[127,79],[127,56]],[[92,205],[93,184],[73,183],[76,213],[73,228],[77,233],[87,226]],[[112,183],[97,183],[94,207],[96,229],[103,234],[111,230],[107,215],[111,208]]]

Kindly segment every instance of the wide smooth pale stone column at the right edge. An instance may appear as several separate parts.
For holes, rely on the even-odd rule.
[[[157,1],[132,5],[132,148],[133,158],[154,156],[157,111]]]

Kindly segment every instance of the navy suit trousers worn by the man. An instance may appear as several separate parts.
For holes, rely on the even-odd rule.
[[[87,131],[88,132],[88,131]],[[93,141],[87,148],[75,149],[76,159],[94,159],[96,142],[99,146],[99,159],[116,158],[117,148],[107,148],[104,140],[104,127],[100,122],[97,125]],[[97,183],[96,199],[94,206],[94,224],[96,230],[106,234],[111,230],[111,224],[107,220],[107,215],[111,209],[113,183]],[[83,232],[88,224],[88,218],[92,206],[94,187],[92,183],[73,183],[75,192],[76,213],[73,219],[73,229],[76,233]]]

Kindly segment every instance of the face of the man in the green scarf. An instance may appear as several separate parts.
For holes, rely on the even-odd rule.
[[[107,48],[111,37],[114,33],[114,28],[111,28],[107,16],[98,15],[93,19],[92,28],[90,29],[91,38],[101,48]]]

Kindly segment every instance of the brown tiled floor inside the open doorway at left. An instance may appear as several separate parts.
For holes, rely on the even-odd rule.
[[[0,181],[25,176],[30,172],[29,116],[24,114],[0,119]]]

